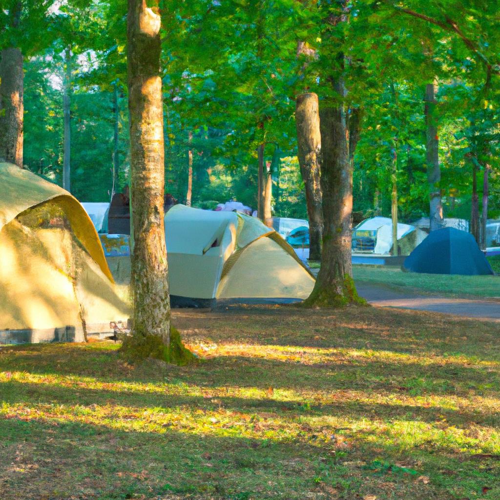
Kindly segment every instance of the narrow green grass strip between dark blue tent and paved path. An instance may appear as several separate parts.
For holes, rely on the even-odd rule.
[[[424,274],[403,272],[393,266],[353,265],[356,282],[382,283],[439,294],[500,297],[500,276],[461,276],[457,274]]]

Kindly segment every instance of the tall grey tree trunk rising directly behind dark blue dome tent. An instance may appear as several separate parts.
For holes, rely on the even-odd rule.
[[[435,85],[425,86],[425,139],[427,162],[427,182],[429,184],[429,222],[430,230],[443,226],[441,189],[441,169],[439,167],[439,138],[437,136]]]

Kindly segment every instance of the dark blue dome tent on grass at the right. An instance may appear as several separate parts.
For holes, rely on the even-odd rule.
[[[431,274],[493,274],[472,234],[454,227],[431,231],[406,257],[403,266]]]

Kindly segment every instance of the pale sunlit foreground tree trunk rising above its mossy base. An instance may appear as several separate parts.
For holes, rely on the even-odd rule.
[[[133,336],[170,343],[163,221],[164,143],[157,1],[128,0],[128,110],[134,247]]]

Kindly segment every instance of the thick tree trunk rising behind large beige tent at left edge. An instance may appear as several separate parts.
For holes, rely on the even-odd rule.
[[[0,161],[22,168],[22,52],[9,47],[1,50],[0,57]]]

